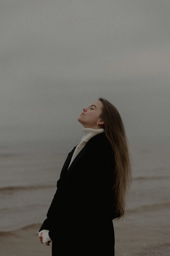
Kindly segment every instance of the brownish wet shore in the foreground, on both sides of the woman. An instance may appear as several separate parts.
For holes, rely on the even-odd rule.
[[[115,256],[169,256],[169,209],[170,205],[164,205],[154,212],[154,217],[151,216],[151,211],[148,211],[144,216],[143,213],[133,213],[127,214],[122,221],[113,221]],[[165,218],[161,219],[161,215]],[[50,256],[51,243],[50,246],[41,244],[36,234],[40,225],[33,224],[3,235],[1,233],[1,255]]]

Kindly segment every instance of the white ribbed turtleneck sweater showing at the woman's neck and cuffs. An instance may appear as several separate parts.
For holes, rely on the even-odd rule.
[[[84,136],[81,139],[80,143],[76,146],[76,149],[73,153],[73,156],[71,158],[70,164],[68,166],[68,168],[70,167],[71,163],[73,162],[73,160],[75,159],[75,157],[78,155],[78,153],[81,151],[81,149],[86,145],[86,143],[95,135],[104,132],[105,130],[103,128],[99,128],[99,129],[92,129],[92,128],[83,128],[83,133]],[[50,237],[49,237],[49,230],[41,230],[39,231],[38,237],[40,236],[41,232],[44,232],[42,235],[44,236],[46,241],[51,241]],[[43,239],[44,240],[44,239]],[[43,243],[45,244],[45,241],[43,241]]]

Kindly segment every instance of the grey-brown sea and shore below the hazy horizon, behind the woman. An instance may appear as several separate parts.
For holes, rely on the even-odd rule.
[[[38,235],[70,148],[1,149],[0,255],[51,255]],[[115,256],[170,255],[169,145],[131,144],[133,182],[122,220],[113,220]],[[160,156],[161,152],[161,156]],[[143,161],[144,160],[144,161]]]

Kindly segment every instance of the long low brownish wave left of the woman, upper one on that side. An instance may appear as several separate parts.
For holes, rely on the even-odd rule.
[[[31,190],[31,189],[43,189],[43,188],[56,188],[56,185],[39,185],[39,186],[9,186],[9,187],[1,187],[1,192],[15,192],[19,190]]]

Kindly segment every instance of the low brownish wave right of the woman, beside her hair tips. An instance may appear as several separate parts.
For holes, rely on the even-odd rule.
[[[149,204],[149,205],[141,205],[132,209],[126,209],[125,213],[144,213],[144,212],[152,212],[160,211],[165,208],[170,209],[170,202],[157,203],[157,204]]]

